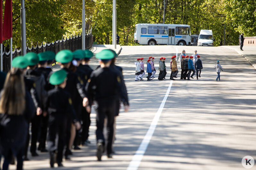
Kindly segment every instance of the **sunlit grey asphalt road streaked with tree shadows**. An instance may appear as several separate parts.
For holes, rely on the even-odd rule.
[[[121,109],[117,117],[116,154],[113,158],[103,156],[101,162],[97,161],[93,110],[91,144],[74,151],[71,161],[63,162],[65,167],[55,169],[238,170],[244,169],[241,164],[244,156],[256,159],[256,70],[245,58],[223,47],[122,48],[116,65],[124,69],[130,111],[125,113]],[[189,56],[196,49],[201,56],[203,69],[199,80],[169,80],[171,57],[176,52],[179,55],[183,49]],[[167,58],[166,80],[145,81],[145,75],[144,81],[134,81],[134,62],[137,58],[150,56],[155,57],[156,68],[160,57]],[[219,82],[215,81],[217,73],[213,69],[217,60],[224,69]],[[146,61],[144,63],[146,66]],[[92,66],[97,66],[95,58]],[[178,77],[180,72],[179,68]],[[50,167],[47,153],[40,153],[37,158],[29,155],[29,158],[30,161],[24,162],[24,169]],[[256,165],[251,169],[256,169]]]

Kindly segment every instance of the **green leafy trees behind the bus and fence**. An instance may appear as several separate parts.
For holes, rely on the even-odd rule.
[[[5,3],[5,0],[3,0]],[[113,0],[85,0],[86,30],[95,41],[112,43]],[[82,0],[25,0],[29,46],[82,32]],[[133,43],[138,23],[163,23],[164,0],[116,0],[119,44]],[[166,0],[165,23],[187,24],[192,34],[213,30],[215,45],[238,45],[238,36],[256,36],[254,0]],[[9,40],[4,41],[5,46]],[[21,46],[20,0],[13,0],[13,46]]]

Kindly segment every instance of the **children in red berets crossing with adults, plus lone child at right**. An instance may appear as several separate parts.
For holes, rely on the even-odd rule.
[[[176,56],[173,56],[171,58],[171,76],[170,80],[175,80],[174,78],[177,78],[178,74],[178,68],[177,68],[177,62],[176,62]],[[135,81],[143,81],[143,75],[145,75],[144,71],[144,58],[138,58],[137,62],[135,62],[136,69],[135,69]],[[159,59],[159,75],[158,80],[164,80],[166,79],[166,65],[165,65],[166,58],[160,58]],[[200,56],[197,54],[197,50],[194,50],[194,54],[192,56],[186,56],[185,50],[182,50],[182,53],[179,58],[180,61],[180,67],[181,67],[181,80],[191,80],[190,78],[194,79],[193,77],[196,76],[196,79],[198,77],[201,77],[201,70],[203,69],[202,61],[200,59]],[[218,77],[216,78],[216,81],[220,81],[220,71],[222,69],[221,65],[219,64],[219,61],[217,62],[217,65],[214,66],[216,69],[216,72],[218,73]],[[149,57],[147,60],[147,81],[153,80],[155,77],[156,69],[154,65],[154,57]],[[192,72],[192,75],[190,75]]]

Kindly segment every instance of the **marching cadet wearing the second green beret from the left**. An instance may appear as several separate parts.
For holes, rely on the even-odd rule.
[[[44,106],[47,98],[47,91],[45,90],[45,78],[42,74],[38,73],[38,71],[35,70],[37,64],[39,63],[39,58],[36,53],[30,52],[27,53],[25,56],[28,60],[28,67],[25,71],[25,76],[32,80],[35,85],[35,89],[38,94],[38,99],[40,105]],[[38,140],[38,132],[40,127],[40,121],[41,121],[41,115],[37,114],[34,118],[31,120],[31,145],[30,145],[30,152],[32,156],[38,156],[36,152],[36,146],[37,146],[37,140]]]

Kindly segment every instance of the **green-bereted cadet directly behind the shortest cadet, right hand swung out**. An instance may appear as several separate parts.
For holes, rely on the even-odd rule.
[[[59,62],[61,68],[63,68],[67,72],[67,83],[64,90],[66,90],[72,99],[73,108],[75,108],[75,103],[79,102],[78,95],[82,98],[83,106],[88,104],[88,98],[86,98],[86,94],[84,88],[81,85],[81,79],[77,73],[74,73],[70,68],[72,68],[72,60],[73,60],[73,53],[70,50],[62,50],[56,54],[56,61]],[[76,112],[77,114],[77,112]],[[77,115],[76,115],[77,116]],[[78,120],[78,118],[76,118]],[[73,146],[73,142],[75,139],[76,128],[78,128],[78,124],[74,123],[69,118],[67,119],[67,148],[65,151],[65,159],[70,159],[68,155],[71,155],[71,148]]]

